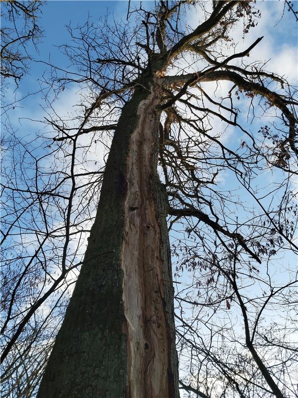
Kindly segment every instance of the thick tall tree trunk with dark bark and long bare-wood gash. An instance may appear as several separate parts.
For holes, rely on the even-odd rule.
[[[123,108],[73,297],[38,398],[177,398],[157,81]]]

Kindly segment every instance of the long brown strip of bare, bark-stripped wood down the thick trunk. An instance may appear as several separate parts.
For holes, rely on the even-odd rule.
[[[160,101],[158,87],[140,103],[127,164],[122,247],[124,330],[128,336],[129,397],[172,398],[172,275],[165,228],[165,203],[157,177]],[[164,248],[167,248],[164,251]],[[165,285],[168,286],[165,289]]]

